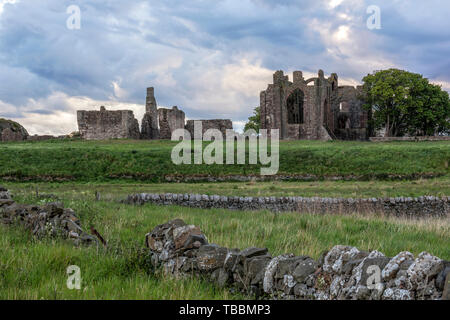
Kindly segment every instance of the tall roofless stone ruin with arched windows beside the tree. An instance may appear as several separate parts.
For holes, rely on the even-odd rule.
[[[294,71],[291,82],[277,71],[260,94],[261,129],[279,129],[281,139],[366,140],[361,94],[361,86],[339,86],[335,73],[325,78],[319,70],[318,77],[305,80]]]

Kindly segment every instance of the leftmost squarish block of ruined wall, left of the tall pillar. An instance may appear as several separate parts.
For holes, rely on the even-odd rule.
[[[78,130],[86,140],[139,139],[139,123],[133,111],[78,111]]]

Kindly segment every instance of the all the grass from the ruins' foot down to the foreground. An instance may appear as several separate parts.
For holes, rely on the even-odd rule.
[[[145,234],[175,218],[198,225],[211,243],[240,249],[267,247],[273,255],[318,258],[324,250],[343,244],[388,256],[404,250],[428,251],[450,260],[449,219],[135,207],[116,201],[135,192],[352,198],[449,195],[449,142],[282,142],[279,174],[313,174],[318,181],[162,183],[165,175],[259,173],[256,165],[175,166],[170,161],[174,145],[120,140],[0,144],[0,177],[7,179],[0,184],[12,191],[16,201],[61,200],[77,212],[85,229],[94,226],[109,242],[107,250],[75,248],[61,239],[36,240],[19,227],[0,225],[0,299],[246,298],[203,279],[173,279],[150,267],[142,250]],[[439,177],[413,179],[427,174]],[[320,179],[349,175],[357,179]],[[389,175],[404,179],[389,180]],[[101,201],[94,201],[97,191]],[[81,268],[80,291],[66,288],[66,268],[72,264]]]

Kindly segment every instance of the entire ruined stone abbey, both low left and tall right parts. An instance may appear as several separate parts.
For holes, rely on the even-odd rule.
[[[260,94],[261,129],[279,129],[281,139],[367,140],[369,114],[362,108],[362,87],[339,86],[333,73],[325,78],[304,79],[294,71],[293,81],[277,71],[273,83]],[[83,139],[171,139],[176,129],[186,129],[193,137],[194,120],[174,106],[158,108],[154,88],[147,88],[145,114],[139,123],[131,110],[78,111],[78,128]],[[231,120],[201,120],[203,133],[217,129],[225,136],[233,129]]]

